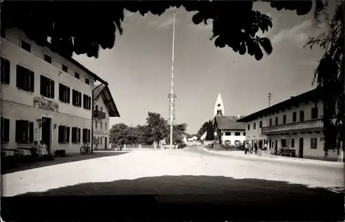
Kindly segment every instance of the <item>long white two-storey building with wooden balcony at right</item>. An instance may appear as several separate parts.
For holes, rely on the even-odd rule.
[[[321,98],[319,89],[311,90],[237,120],[246,124],[246,143],[266,143],[271,154],[283,148],[290,157],[325,159]],[[337,150],[328,155],[338,158]]]

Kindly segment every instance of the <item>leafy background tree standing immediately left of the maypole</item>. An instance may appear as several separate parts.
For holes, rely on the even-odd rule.
[[[161,117],[161,114],[157,112],[148,112],[148,117],[146,117],[146,124],[150,129],[152,141],[157,141],[157,143],[159,143],[159,141],[168,137],[168,121]]]

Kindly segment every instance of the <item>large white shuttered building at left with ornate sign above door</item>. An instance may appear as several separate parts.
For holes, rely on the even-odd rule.
[[[104,81],[17,28],[1,36],[1,147],[43,140],[52,153],[79,152],[90,142],[94,82]]]

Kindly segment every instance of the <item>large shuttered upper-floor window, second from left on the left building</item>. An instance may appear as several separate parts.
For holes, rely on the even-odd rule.
[[[26,92],[34,92],[34,72],[17,65],[17,88]]]

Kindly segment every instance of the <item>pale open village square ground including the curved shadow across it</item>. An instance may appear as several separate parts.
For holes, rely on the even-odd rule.
[[[2,179],[3,196],[153,194],[160,202],[291,203],[301,209],[317,203],[329,208],[329,214],[344,212],[342,165],[235,158],[197,147],[135,151],[9,173]],[[176,198],[160,199],[164,195]]]

